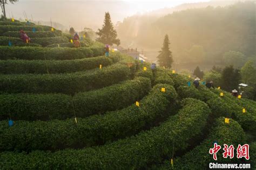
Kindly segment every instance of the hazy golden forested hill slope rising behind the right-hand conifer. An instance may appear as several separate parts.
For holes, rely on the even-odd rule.
[[[248,57],[256,57],[255,12],[254,2],[244,2],[173,12],[161,18],[152,17],[151,24],[147,22],[149,17],[144,16],[145,24],[137,23],[136,31],[130,32],[130,40],[137,46],[160,49],[164,35],[168,34],[176,61],[221,63],[225,52],[236,51],[244,54],[245,62]],[[119,31],[122,26],[125,27],[121,24]]]

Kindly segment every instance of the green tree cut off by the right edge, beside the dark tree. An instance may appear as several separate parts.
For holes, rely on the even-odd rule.
[[[256,69],[251,60],[245,63],[241,68],[242,83],[248,84],[243,97],[256,99]]]

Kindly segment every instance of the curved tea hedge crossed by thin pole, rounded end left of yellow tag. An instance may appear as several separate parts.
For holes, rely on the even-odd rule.
[[[65,94],[1,94],[0,120],[8,117],[12,120],[66,119],[74,116],[74,110],[77,117],[83,118],[124,108],[144,97],[150,89],[150,80],[140,77],[80,92],[73,98]]]

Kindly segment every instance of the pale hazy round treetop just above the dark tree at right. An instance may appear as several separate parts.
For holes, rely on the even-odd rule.
[[[236,68],[241,68],[245,63],[245,55],[237,51],[228,51],[223,55],[223,62],[226,65],[233,65]]]

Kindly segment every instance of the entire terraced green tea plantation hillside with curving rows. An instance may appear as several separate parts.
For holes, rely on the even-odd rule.
[[[19,39],[21,29],[31,42]],[[152,71],[120,52],[105,57],[104,45],[90,39],[73,47],[71,38],[49,26],[0,21],[0,169],[255,165],[255,101],[196,89],[191,78]],[[214,142],[249,144],[250,160],[221,152],[214,161]]]

